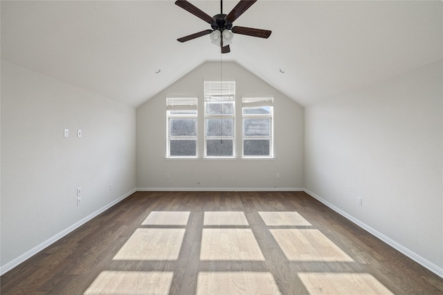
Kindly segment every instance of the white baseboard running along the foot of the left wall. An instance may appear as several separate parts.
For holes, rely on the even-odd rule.
[[[48,240],[45,240],[41,244],[33,247],[33,249],[30,249],[29,251],[26,251],[24,254],[21,254],[19,257],[15,258],[14,260],[10,261],[9,263],[6,263],[5,265],[2,265],[0,267],[0,276],[3,276],[3,274],[6,274],[6,272],[9,272],[11,269],[19,265],[20,263],[24,263],[24,261],[28,260],[35,254],[37,254],[39,251],[42,251],[46,247],[49,247],[54,242],[57,242],[57,240],[60,240],[67,234],[71,233],[71,231],[77,229],[78,227],[84,225],[86,222],[91,220],[92,218],[98,216],[100,213],[106,211],[107,209],[111,208],[118,202],[124,200],[125,198],[132,195],[132,193],[136,192],[136,189],[132,189],[128,193],[125,193],[125,195],[121,196],[120,198],[117,198],[116,200],[110,202],[109,204],[106,204],[104,207],[98,209],[97,211],[94,211],[93,213],[89,214],[89,216],[86,216],[82,220],[79,220],[78,222],[75,222],[70,227],[64,229],[63,231],[60,231],[60,233],[56,234],[55,236],[52,236],[51,238],[48,238]]]

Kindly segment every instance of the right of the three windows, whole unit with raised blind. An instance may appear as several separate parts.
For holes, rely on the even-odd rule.
[[[243,158],[273,158],[273,97],[243,97]]]

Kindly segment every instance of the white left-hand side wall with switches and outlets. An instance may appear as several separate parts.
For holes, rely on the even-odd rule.
[[[2,272],[134,190],[135,131],[134,108],[1,61]]]

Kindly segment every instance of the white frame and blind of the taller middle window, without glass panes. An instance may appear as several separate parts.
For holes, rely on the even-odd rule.
[[[208,114],[208,104],[231,104],[232,114]],[[221,108],[220,108],[221,109]],[[221,112],[221,111],[220,111]],[[204,82],[204,113],[205,113],[205,129],[204,129],[204,158],[206,159],[232,159],[235,158],[235,81],[205,81]],[[233,120],[233,135],[232,136],[209,136],[207,135],[208,120]],[[233,154],[232,155],[208,155],[207,144],[208,140],[232,140]]]

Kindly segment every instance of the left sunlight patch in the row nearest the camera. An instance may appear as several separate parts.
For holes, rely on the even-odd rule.
[[[84,294],[167,295],[174,272],[101,272]]]

